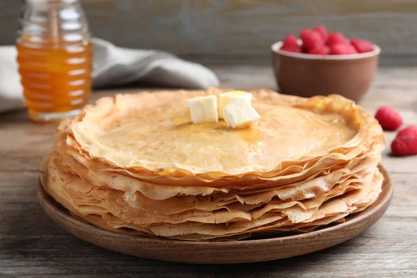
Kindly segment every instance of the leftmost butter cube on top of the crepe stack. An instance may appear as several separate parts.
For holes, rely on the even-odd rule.
[[[218,122],[217,97],[209,95],[188,99],[193,123]]]

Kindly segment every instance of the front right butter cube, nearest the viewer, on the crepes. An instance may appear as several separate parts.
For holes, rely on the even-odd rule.
[[[224,121],[234,129],[247,126],[256,126],[259,114],[245,99],[238,99],[223,108]]]

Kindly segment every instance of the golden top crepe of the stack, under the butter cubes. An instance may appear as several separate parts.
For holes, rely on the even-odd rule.
[[[254,129],[190,122],[188,99],[220,92],[144,92],[100,99],[67,126],[73,138],[69,144],[111,167],[214,179],[276,177],[285,168],[325,156],[347,161],[382,135],[373,117],[341,96],[304,99],[267,90],[252,91],[252,105],[261,115]]]

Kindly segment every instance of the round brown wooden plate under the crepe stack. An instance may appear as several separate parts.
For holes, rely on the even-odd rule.
[[[109,250],[148,259],[183,263],[249,263],[316,252],[343,243],[375,224],[388,208],[393,195],[393,185],[388,172],[382,166],[379,166],[379,170],[385,179],[377,201],[366,210],[347,217],[345,223],[306,234],[254,240],[193,242],[118,234],[72,217],[63,206],[47,195],[41,184],[38,186],[38,197],[44,211],[60,227],[74,236]]]

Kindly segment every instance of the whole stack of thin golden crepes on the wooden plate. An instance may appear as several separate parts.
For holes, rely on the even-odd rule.
[[[384,135],[363,108],[253,90],[256,127],[193,124],[188,99],[220,92],[99,99],[60,124],[45,190],[103,229],[180,240],[307,232],[375,202]]]

